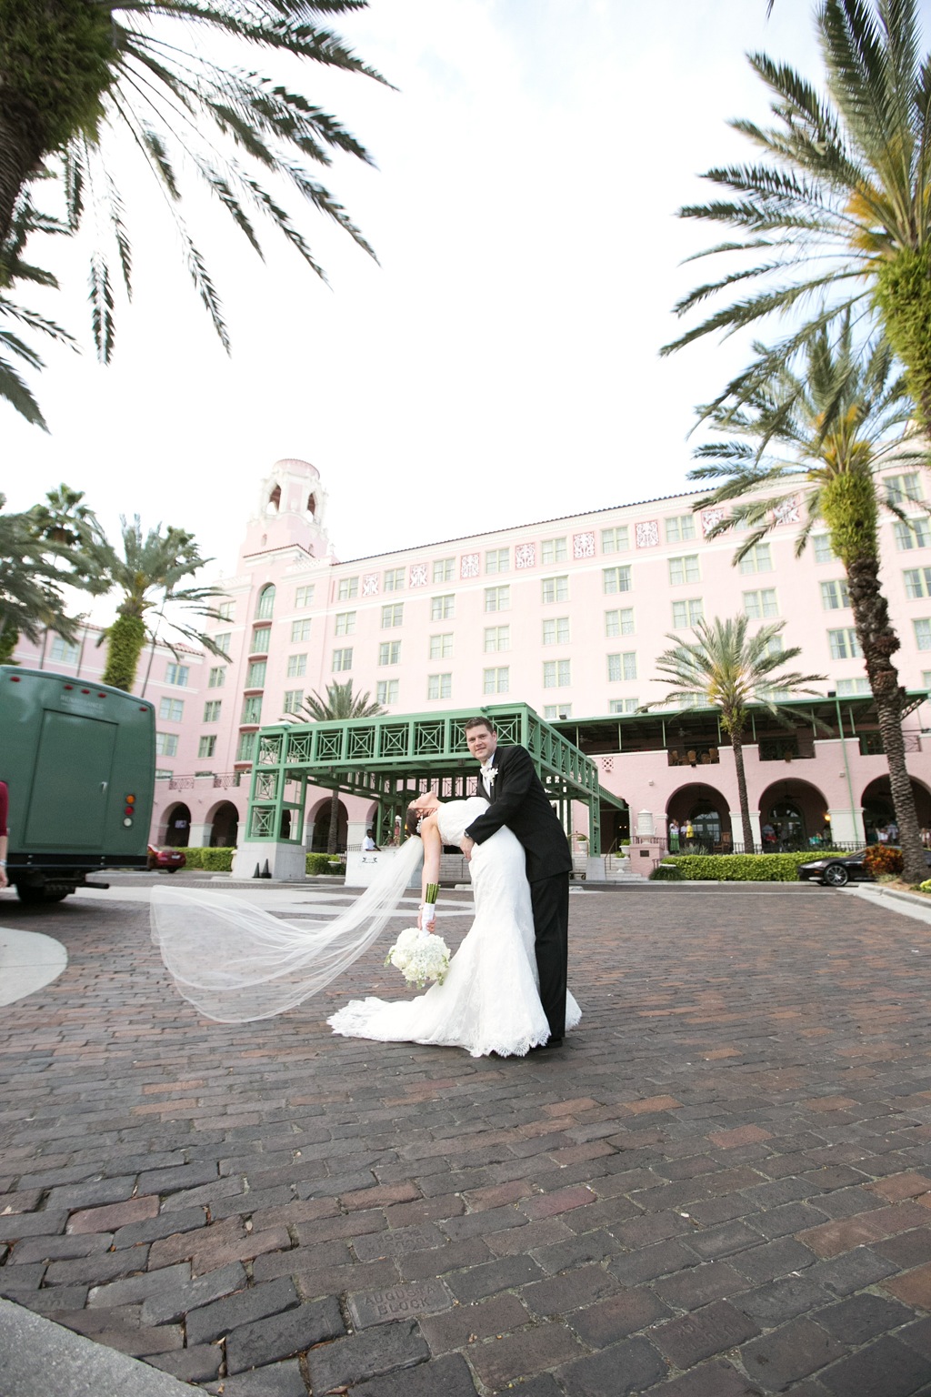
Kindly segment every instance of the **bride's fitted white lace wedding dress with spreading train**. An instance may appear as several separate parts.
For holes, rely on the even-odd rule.
[[[469,824],[487,809],[482,796],[440,806],[444,844],[459,844]],[[353,999],[327,1023],[346,1038],[380,1042],[441,1044],[489,1053],[523,1056],[544,1044],[550,1028],[539,996],[533,953],[530,886],[523,848],[501,828],[472,851],[475,921],[452,957],[442,985],[416,999]],[[441,932],[441,922],[437,926]],[[582,1013],[567,995],[565,1027]]]

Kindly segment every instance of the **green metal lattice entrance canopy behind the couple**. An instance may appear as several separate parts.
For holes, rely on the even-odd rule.
[[[378,803],[381,837],[394,828],[410,800],[435,788],[441,799],[475,789],[477,766],[465,740],[472,708],[430,714],[391,714],[334,722],[276,724],[255,733],[247,838],[300,844],[307,788],[343,791]],[[571,800],[589,807],[589,848],[600,854],[600,805],[625,803],[599,782],[597,767],[526,704],[482,710],[502,746],[528,749],[540,781],[565,826]]]

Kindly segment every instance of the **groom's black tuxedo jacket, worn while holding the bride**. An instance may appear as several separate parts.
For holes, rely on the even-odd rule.
[[[489,796],[491,803],[466,830],[469,838],[483,844],[507,824],[523,845],[530,883],[553,877],[554,873],[568,873],[572,868],[569,841],[533,770],[530,753],[518,745],[498,747],[494,753],[494,770],[497,775]],[[483,793],[484,787],[479,781],[479,795]]]

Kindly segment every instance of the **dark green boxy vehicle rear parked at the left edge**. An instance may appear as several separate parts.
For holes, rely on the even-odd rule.
[[[24,902],[57,902],[103,868],[145,868],[155,711],[68,675],[0,665],[7,875]],[[96,884],[98,887],[105,884]]]

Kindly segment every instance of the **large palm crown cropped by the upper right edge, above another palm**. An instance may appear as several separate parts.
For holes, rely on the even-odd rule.
[[[824,0],[817,31],[828,96],[764,53],[750,57],[769,88],[775,126],[731,122],[762,152],[752,165],[705,179],[736,197],[688,205],[680,217],[723,224],[736,237],[708,250],[750,254],[677,306],[681,316],[722,292],[764,289],[723,306],[663,348],[769,314],[807,321],[740,373],[717,400],[745,400],[810,332],[856,309],[878,312],[931,427],[931,56],[920,57],[914,0]],[[814,307],[808,310],[807,307]]]

